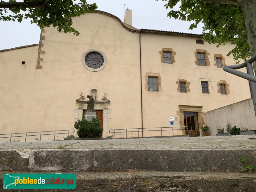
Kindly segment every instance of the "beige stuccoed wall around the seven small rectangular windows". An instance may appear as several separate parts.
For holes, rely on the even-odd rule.
[[[161,63],[159,51],[163,48],[172,48],[175,63]],[[195,64],[196,49],[204,49],[210,53],[210,66]],[[225,64],[235,65],[235,62],[226,54],[232,49],[230,44],[217,48],[214,44],[196,44],[196,38],[164,35],[141,35],[142,57],[142,84],[143,84],[143,125],[144,127],[170,126],[169,117],[179,117],[179,105],[203,106],[206,112],[240,100],[251,97],[247,80],[223,71],[223,68],[214,66],[214,54],[222,54],[226,58]],[[246,69],[241,69],[246,72]],[[145,90],[144,76],[147,72],[159,73],[162,91],[150,92]],[[199,79],[210,79],[213,87],[212,93],[198,92]],[[190,82],[190,92],[177,92],[178,79]],[[229,84],[230,94],[217,93],[217,83],[226,80]],[[180,119],[179,119],[180,120]],[[175,124],[179,122],[175,121]]]

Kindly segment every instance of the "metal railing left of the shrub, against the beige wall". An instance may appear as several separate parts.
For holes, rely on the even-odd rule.
[[[67,131],[67,132],[63,132],[63,131]],[[71,131],[71,132],[70,132]],[[54,132],[54,133],[47,133],[47,134],[44,134],[45,132]],[[61,132],[61,133],[60,133]],[[10,138],[10,142],[12,141],[12,138],[14,137],[25,137],[25,142],[27,140],[27,137],[30,137],[30,136],[39,136],[40,135],[40,139],[39,141],[41,141],[41,136],[42,135],[54,135],[54,141],[55,141],[55,135],[58,135],[58,134],[68,134],[69,133],[74,133],[75,130],[74,129],[68,129],[68,130],[56,130],[56,131],[39,131],[39,132],[25,132],[25,133],[5,133],[5,134],[0,134],[1,135],[10,135],[8,137],[0,137],[0,139],[2,138]],[[38,133],[38,134],[34,134],[34,133]],[[40,133],[40,134],[39,134]],[[13,135],[17,135],[17,134],[25,134],[25,135],[18,135],[18,136],[13,136]],[[30,135],[32,134],[32,135]]]

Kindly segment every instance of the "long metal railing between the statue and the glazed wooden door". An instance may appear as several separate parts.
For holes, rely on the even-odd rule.
[[[172,129],[168,129],[168,128],[172,128]],[[183,129],[173,129],[173,128],[183,128]],[[154,129],[156,129],[156,130],[154,130]],[[132,131],[130,131],[130,130],[132,130]],[[161,132],[161,136],[163,136],[163,132],[165,132],[165,131],[172,131],[172,135],[174,135],[174,131],[181,131],[181,130],[183,131],[183,134],[185,134],[185,130],[188,130],[188,126],[111,129],[111,130],[109,130],[109,132],[114,133],[114,139],[115,139],[115,133],[125,133],[126,138],[127,138],[127,133],[128,132],[138,132],[138,137],[139,137],[140,132],[149,132],[149,137],[151,137],[151,132],[155,132],[155,131]]]

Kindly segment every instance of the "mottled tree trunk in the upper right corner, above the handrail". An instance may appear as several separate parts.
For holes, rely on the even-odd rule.
[[[239,6],[244,13],[245,27],[248,37],[251,56],[256,55],[256,1],[244,0]],[[256,74],[256,62],[253,62],[253,69]]]

